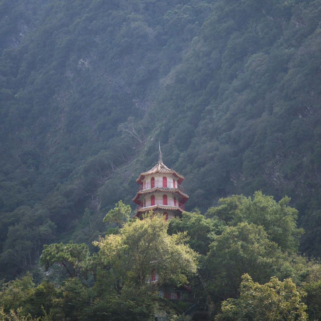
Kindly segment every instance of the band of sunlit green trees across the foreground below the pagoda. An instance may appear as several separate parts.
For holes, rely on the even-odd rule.
[[[221,199],[207,218],[184,212],[166,221],[148,213],[122,223],[117,234],[100,236],[93,242],[99,252],[93,254],[85,244],[45,245],[40,263],[47,272],[40,283],[29,273],[2,283],[0,315],[5,320],[153,320],[155,315],[194,320],[191,308],[203,302],[202,320],[320,319],[321,264],[299,255],[291,235],[302,231],[287,201],[256,192]],[[245,210],[253,207],[256,211]],[[109,214],[120,209],[126,209],[122,201]],[[279,220],[278,232],[287,242],[283,237],[279,244],[275,226],[254,223],[256,217]],[[183,284],[193,295],[181,300],[158,295],[160,288]]]

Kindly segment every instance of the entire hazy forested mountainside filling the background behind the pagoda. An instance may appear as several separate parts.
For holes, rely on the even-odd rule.
[[[320,255],[321,1],[4,0],[0,14],[0,277],[45,243],[96,239],[159,139],[187,210],[287,194]]]

